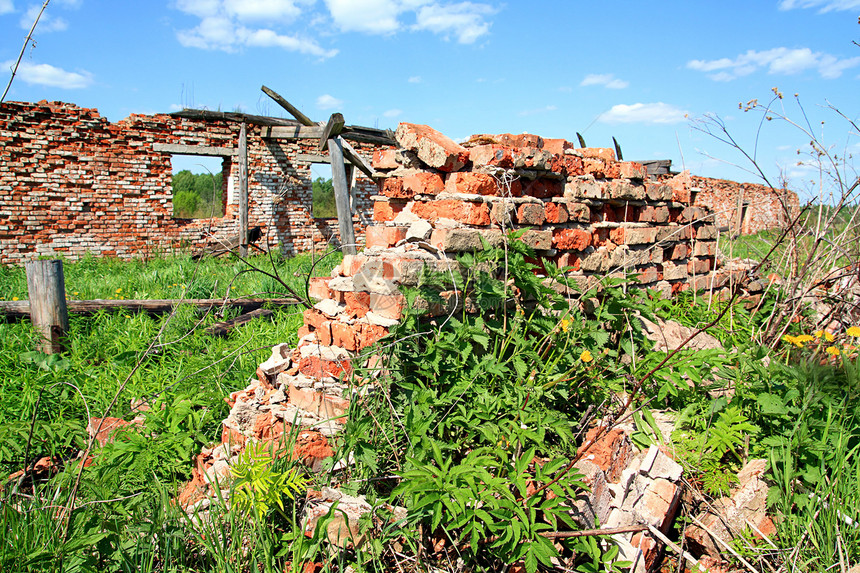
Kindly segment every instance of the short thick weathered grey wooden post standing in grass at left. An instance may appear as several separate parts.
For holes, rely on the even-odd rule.
[[[63,261],[29,261],[27,291],[30,298],[30,320],[44,338],[45,354],[58,354],[66,349],[69,313],[66,308],[66,280]]]

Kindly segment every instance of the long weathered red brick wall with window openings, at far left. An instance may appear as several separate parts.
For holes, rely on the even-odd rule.
[[[128,258],[199,247],[238,233],[238,165],[224,163],[225,216],[172,216],[170,154],[156,144],[235,149],[240,125],[171,115],[110,123],[94,109],[61,102],[0,105],[0,263],[85,253]],[[265,138],[248,126],[249,225],[286,253],[325,248],[337,223],[313,218],[316,140]],[[376,146],[355,147],[369,157]],[[356,235],[370,217],[372,181],[355,182]]]

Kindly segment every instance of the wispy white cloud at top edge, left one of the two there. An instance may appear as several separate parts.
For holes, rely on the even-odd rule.
[[[308,0],[177,0],[179,10],[197,16],[197,26],[179,30],[179,43],[190,48],[233,52],[241,47],[282,48],[320,58],[331,58],[337,50],[316,41],[272,28],[249,27],[246,22],[265,21],[272,26],[291,22],[300,14],[299,4]]]

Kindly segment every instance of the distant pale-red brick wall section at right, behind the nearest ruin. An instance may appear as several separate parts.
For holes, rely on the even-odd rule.
[[[718,227],[732,234],[753,235],[784,227],[797,215],[797,194],[755,183],[690,177],[693,204],[713,211]]]

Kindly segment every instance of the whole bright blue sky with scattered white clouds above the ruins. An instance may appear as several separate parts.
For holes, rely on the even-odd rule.
[[[0,0],[4,86],[40,6]],[[860,114],[858,15],[860,0],[52,0],[7,100],[74,102],[112,121],[182,107],[283,115],[265,84],[318,121],[340,111],[454,139],[579,131],[595,147],[615,136],[625,159],[752,181],[696,120],[719,116],[751,150],[761,117],[738,104],[777,87],[777,109],[802,120],[799,94],[828,144],[860,151],[826,109]],[[803,186],[815,175],[796,165],[806,145],[765,122],[757,158]]]

